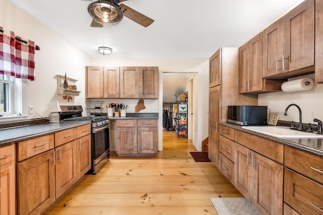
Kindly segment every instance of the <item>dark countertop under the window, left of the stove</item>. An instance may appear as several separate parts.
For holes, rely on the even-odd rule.
[[[60,123],[47,122],[43,124],[30,124],[22,125],[20,127],[0,129],[0,146],[90,123],[90,121],[61,121]]]

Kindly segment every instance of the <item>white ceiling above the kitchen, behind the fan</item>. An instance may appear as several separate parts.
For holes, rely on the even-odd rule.
[[[154,20],[147,28],[124,17],[116,26],[92,28],[82,0],[9,0],[91,57],[210,57],[238,47],[300,0],[129,0],[124,5]],[[36,33],[36,32],[35,32]]]

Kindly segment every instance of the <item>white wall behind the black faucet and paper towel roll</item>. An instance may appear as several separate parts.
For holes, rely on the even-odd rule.
[[[314,75],[297,77],[289,80],[311,78]],[[285,109],[290,104],[297,104],[302,110],[302,122],[314,124],[313,119],[323,120],[323,84],[314,84],[308,91],[298,92],[275,92],[258,95],[258,105],[266,105],[271,112],[279,113],[279,119],[285,121],[299,122],[299,112],[294,106],[290,107],[287,116],[284,116]]]

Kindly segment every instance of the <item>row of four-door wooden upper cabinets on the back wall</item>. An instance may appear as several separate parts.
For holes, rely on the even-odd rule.
[[[87,66],[86,98],[158,98],[158,67]]]

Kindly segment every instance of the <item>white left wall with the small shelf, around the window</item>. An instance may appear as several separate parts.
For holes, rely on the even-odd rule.
[[[0,26],[11,30],[16,35],[35,41],[40,50],[35,51],[35,81],[27,81],[27,107],[23,114],[28,114],[28,105],[33,105],[36,112],[47,116],[50,100],[58,100],[60,105],[81,104],[85,101],[84,66],[90,58],[75,46],[64,40],[57,33],[34,20],[31,16],[9,3],[0,1]],[[56,75],[64,75],[76,80],[80,96],[67,102],[57,93]],[[28,118],[39,118],[36,114]]]

